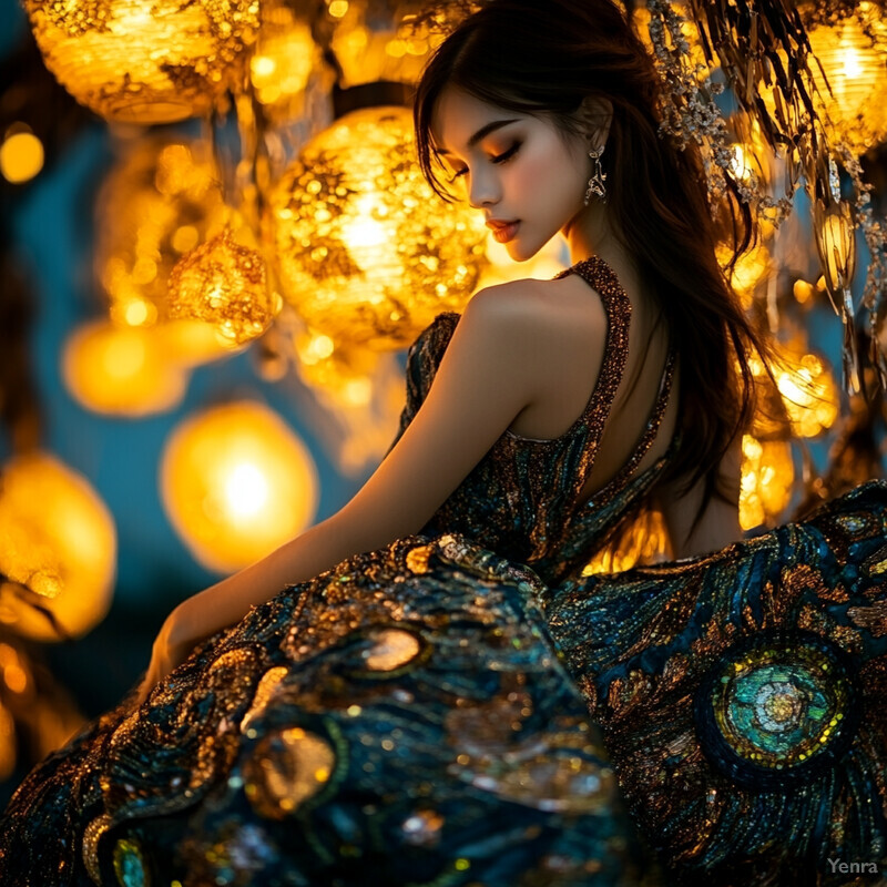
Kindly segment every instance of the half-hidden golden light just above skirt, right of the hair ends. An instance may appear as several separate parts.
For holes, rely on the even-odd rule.
[[[740,526],[751,530],[777,520],[787,508],[795,481],[792,447],[785,440],[742,439]]]

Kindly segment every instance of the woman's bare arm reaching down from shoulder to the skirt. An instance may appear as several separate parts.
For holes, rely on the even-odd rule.
[[[420,409],[364,487],[332,518],[180,604],[157,636],[146,682],[285,585],[418,532],[537,396],[539,334],[539,303],[526,282],[478,293]]]

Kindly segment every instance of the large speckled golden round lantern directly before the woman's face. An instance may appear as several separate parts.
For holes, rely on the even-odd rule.
[[[482,216],[438,198],[415,150],[406,109],[355,111],[312,140],[269,196],[284,296],[337,345],[402,348],[475,290]]]

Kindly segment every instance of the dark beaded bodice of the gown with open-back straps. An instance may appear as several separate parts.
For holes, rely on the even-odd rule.
[[[652,445],[667,405],[675,366],[672,349],[656,401],[622,469],[589,501],[580,502],[625,368],[631,303],[614,272],[598,256],[577,263],[558,277],[568,274],[579,274],[600,294],[608,320],[601,370],[585,408],[557,438],[527,438],[507,429],[420,530],[427,534],[463,533],[526,563],[548,584],[581,572],[608,531],[651,489],[676,446],[673,440],[663,457],[632,476]],[[407,402],[391,447],[425,400],[459,320],[455,312],[439,314],[410,346]]]

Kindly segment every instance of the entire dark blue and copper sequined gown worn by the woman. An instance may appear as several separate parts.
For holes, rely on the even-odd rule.
[[[876,877],[885,487],[707,558],[583,575],[680,446],[632,476],[675,359],[578,504],[631,305],[597,257],[564,273],[608,316],[573,426],[506,431],[418,534],[284,589],[50,756],[0,820],[0,883],[652,884],[648,846],[680,884]],[[411,346],[398,437],[458,322]]]

